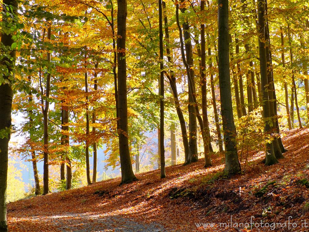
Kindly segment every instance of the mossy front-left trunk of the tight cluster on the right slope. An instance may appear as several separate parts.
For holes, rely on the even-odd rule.
[[[264,131],[268,134],[268,140],[271,139],[271,127],[269,123],[270,109],[269,109],[269,95],[268,95],[268,79],[267,79],[267,59],[266,59],[266,45],[265,45],[265,0],[258,2],[258,33],[259,33],[259,53],[260,53],[260,75],[261,75],[261,93],[263,96],[263,118],[265,118]],[[273,142],[265,142],[266,157],[265,165],[273,165],[278,163],[277,158],[273,152]]]

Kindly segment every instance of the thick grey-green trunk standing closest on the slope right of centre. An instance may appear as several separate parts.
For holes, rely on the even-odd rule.
[[[228,175],[240,171],[236,148],[236,129],[233,118],[230,58],[229,58],[229,5],[228,0],[218,1],[218,66],[221,114],[225,141],[225,168]]]

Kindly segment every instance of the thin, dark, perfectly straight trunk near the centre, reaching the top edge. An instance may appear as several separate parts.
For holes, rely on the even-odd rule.
[[[160,174],[165,178],[164,150],[164,70],[163,70],[163,25],[162,0],[159,0],[159,43],[160,43]]]

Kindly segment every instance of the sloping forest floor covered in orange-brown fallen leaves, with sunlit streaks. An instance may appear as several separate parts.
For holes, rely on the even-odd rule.
[[[231,179],[222,176],[223,154],[214,154],[207,169],[200,159],[167,167],[164,179],[155,170],[122,186],[115,178],[12,202],[9,230],[309,231],[309,129],[286,132],[283,144],[280,164],[265,166],[264,153],[252,152]]]

